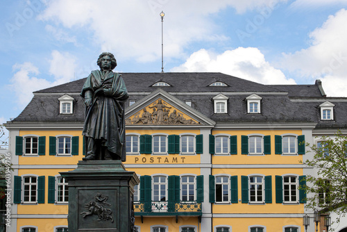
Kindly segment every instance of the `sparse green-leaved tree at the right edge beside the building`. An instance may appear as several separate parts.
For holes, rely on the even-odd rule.
[[[307,175],[305,186],[307,208],[321,209],[325,213],[347,213],[347,137],[341,132],[332,137],[323,136],[318,144],[310,145],[314,153],[312,160],[303,164],[314,167],[316,175]],[[339,221],[339,219],[338,219]]]

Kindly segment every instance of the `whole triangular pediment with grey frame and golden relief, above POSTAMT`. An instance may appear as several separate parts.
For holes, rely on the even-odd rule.
[[[215,122],[164,90],[126,109],[126,126],[213,126]]]

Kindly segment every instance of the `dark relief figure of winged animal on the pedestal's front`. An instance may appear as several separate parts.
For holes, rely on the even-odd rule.
[[[94,201],[90,201],[85,204],[85,208],[87,208],[88,211],[82,212],[81,215],[83,215],[83,217],[89,215],[98,215],[98,221],[107,221],[108,219],[110,219],[111,222],[113,222],[113,218],[111,216],[112,210],[110,210],[110,208],[106,208],[106,206],[111,206],[110,204],[105,202],[107,200],[108,196],[105,196],[101,193],[96,194]]]

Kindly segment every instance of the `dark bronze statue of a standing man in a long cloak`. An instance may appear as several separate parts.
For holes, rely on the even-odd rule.
[[[101,53],[97,61],[101,70],[94,70],[83,85],[85,99],[87,154],[83,160],[126,161],[124,101],[128,99],[121,75],[112,72],[117,61],[112,53]]]

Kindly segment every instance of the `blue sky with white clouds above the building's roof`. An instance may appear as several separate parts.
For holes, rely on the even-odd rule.
[[[102,51],[117,72],[223,72],[347,97],[347,0],[1,1],[0,121],[32,92],[84,78]]]

